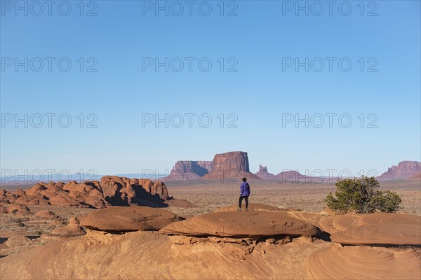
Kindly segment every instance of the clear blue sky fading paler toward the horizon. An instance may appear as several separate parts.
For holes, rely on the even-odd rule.
[[[1,0],[2,171],[420,161],[420,1],[43,3]]]

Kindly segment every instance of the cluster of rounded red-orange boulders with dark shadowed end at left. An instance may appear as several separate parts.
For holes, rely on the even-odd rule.
[[[2,211],[13,211],[13,205],[55,205],[59,207],[104,208],[116,206],[151,206],[166,207],[168,190],[160,181],[149,179],[128,179],[119,176],[103,176],[101,182],[85,181],[77,183],[51,182],[36,183],[28,190],[16,190],[14,193],[0,190]],[[18,208],[16,208],[18,209]],[[17,211],[25,212],[25,209]]]

